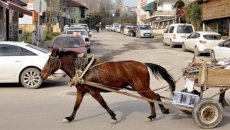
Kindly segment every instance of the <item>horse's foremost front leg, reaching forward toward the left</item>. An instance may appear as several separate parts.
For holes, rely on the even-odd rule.
[[[79,106],[80,106],[80,104],[82,102],[82,99],[83,99],[85,93],[86,93],[86,91],[84,89],[78,87],[77,93],[76,93],[76,102],[75,102],[75,105],[74,105],[74,108],[73,108],[73,112],[72,112],[71,116],[65,117],[62,120],[63,123],[71,122],[71,121],[74,120],[76,112],[77,112],[77,110],[78,110],[78,108],[79,108]]]

